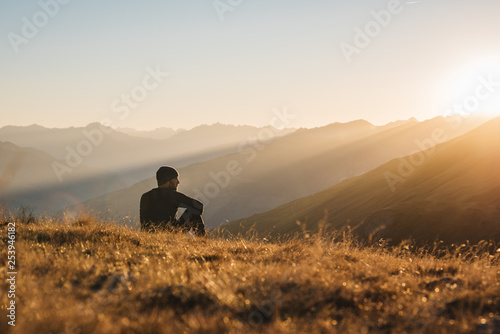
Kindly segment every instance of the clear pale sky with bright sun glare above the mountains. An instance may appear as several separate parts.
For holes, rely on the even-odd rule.
[[[403,0],[383,24],[391,1],[59,1],[0,2],[0,126],[382,124],[500,81],[498,0]]]

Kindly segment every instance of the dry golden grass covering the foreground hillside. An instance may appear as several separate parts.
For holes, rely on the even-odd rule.
[[[3,277],[15,219],[12,330]],[[140,233],[91,216],[27,220],[0,219],[2,333],[500,330],[500,256],[481,247],[435,256],[320,234],[271,243]]]

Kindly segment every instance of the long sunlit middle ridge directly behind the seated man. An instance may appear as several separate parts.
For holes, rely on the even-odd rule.
[[[419,151],[436,131],[442,132],[439,139],[450,139],[482,122],[483,118],[470,117],[459,124],[455,118],[437,117],[386,126],[360,120],[300,129],[269,143],[249,143],[240,152],[181,168],[179,190],[202,200],[207,226],[216,227],[311,195],[395,157]],[[119,217],[136,217],[141,194],[155,186],[151,177],[86,204]]]

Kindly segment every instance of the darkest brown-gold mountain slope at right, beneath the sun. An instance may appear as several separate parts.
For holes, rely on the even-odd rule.
[[[224,226],[263,235],[353,227],[363,238],[500,240],[500,118],[312,196]]]

